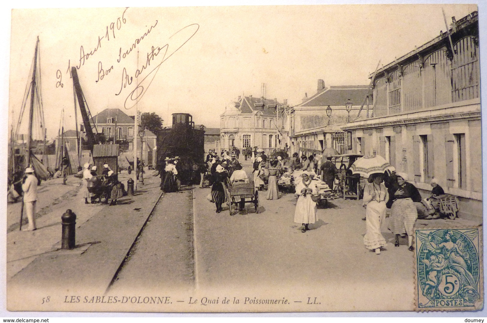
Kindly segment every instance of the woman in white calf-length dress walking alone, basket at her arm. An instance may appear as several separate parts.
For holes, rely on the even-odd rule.
[[[302,180],[296,185],[296,211],[294,212],[294,222],[301,223],[301,232],[309,230],[308,224],[316,222],[316,202],[311,199],[312,194],[318,194],[316,183],[311,181],[309,172],[301,174]]]

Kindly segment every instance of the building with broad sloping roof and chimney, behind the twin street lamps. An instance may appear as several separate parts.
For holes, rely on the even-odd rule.
[[[352,102],[348,113],[345,103]],[[372,91],[368,85],[324,85],[318,80],[317,92],[308,98],[307,93],[302,103],[289,111],[290,153],[321,152],[326,147],[333,147],[338,153],[347,153],[349,146],[341,127],[356,118],[360,107],[372,106]],[[328,110],[328,113],[327,113]],[[351,148],[350,148],[351,149]]]

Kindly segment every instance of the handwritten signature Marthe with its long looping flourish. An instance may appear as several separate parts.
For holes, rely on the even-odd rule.
[[[127,96],[125,99],[124,107],[126,109],[130,109],[133,107],[137,101],[146,93],[147,89],[149,88],[150,84],[152,83],[152,80],[154,79],[155,75],[157,74],[157,71],[161,67],[162,63],[164,63],[169,57],[172,56],[176,51],[178,51],[181,47],[183,47],[189,39],[191,39],[196,32],[198,32],[198,29],[200,28],[200,25],[194,23],[187,25],[186,27],[180,29],[173,35],[169,37],[169,41],[162,47],[159,46],[152,46],[151,51],[147,53],[147,59],[144,65],[142,65],[142,68],[137,69],[135,71],[135,77],[138,77],[143,73],[143,71],[151,66],[153,64],[157,64],[150,72],[149,74],[144,77],[144,79],[135,87],[133,91]],[[191,34],[192,33],[192,34]],[[174,50],[173,50],[174,48]],[[160,62],[154,62],[156,57],[158,55],[162,54],[162,59]],[[160,58],[160,56],[159,56]],[[119,95],[124,88],[127,87],[127,85],[131,85],[133,81],[133,77],[129,76],[127,73],[126,68],[123,68],[122,70],[122,84],[120,86],[120,90],[118,93],[115,95]],[[131,105],[130,105],[131,104]],[[130,105],[130,106],[129,106]]]

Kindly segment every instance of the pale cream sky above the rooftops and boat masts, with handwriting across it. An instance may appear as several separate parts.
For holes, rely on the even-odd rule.
[[[137,107],[165,125],[171,113],[184,112],[218,128],[225,106],[240,95],[260,97],[262,83],[267,98],[290,105],[315,94],[318,79],[326,86],[368,85],[379,60],[386,65],[446,30],[442,8],[448,23],[477,10],[466,4],[14,9],[9,120],[19,118],[37,36],[48,139],[57,136],[61,115],[64,128],[75,129],[72,66],[79,67],[93,115],[109,107],[134,115]],[[135,107],[137,84],[143,92]],[[24,119],[19,133],[27,133]]]

